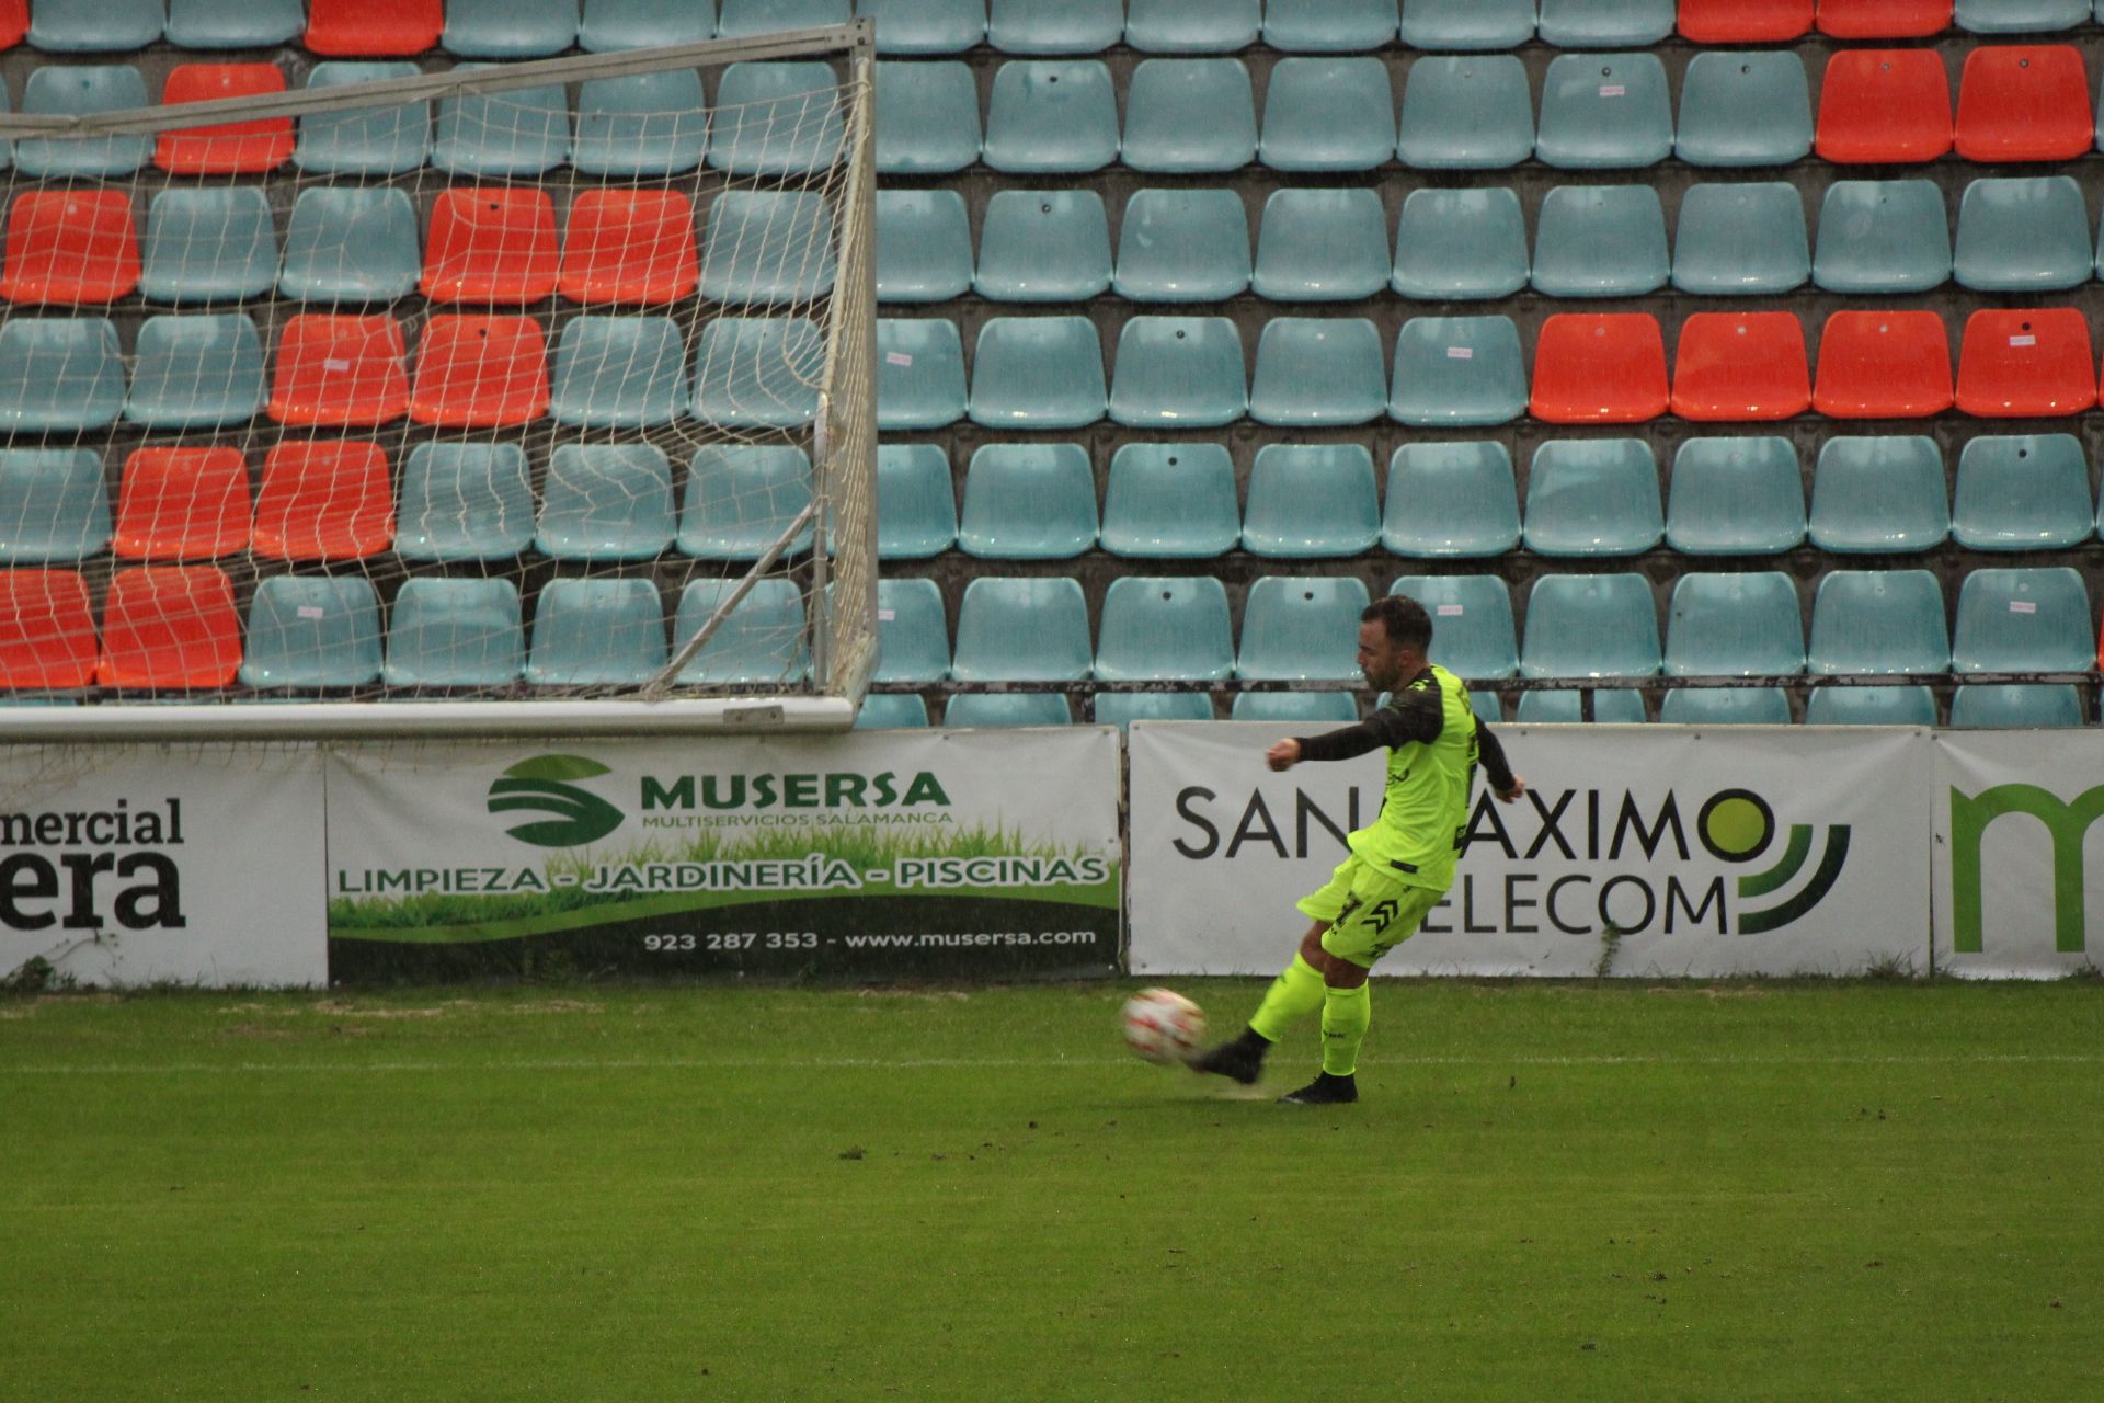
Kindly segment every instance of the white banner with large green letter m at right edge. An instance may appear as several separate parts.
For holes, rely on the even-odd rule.
[[[2104,734],[1938,732],[1934,808],[1938,970],[2058,978],[2104,961]]]

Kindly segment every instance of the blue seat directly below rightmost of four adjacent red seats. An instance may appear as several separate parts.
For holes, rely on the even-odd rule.
[[[1950,536],[1971,551],[2062,551],[2096,528],[2072,433],[1982,435],[1959,452]]]

